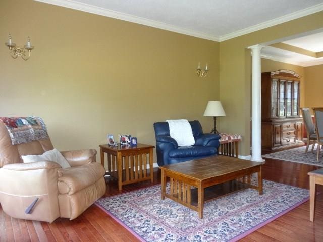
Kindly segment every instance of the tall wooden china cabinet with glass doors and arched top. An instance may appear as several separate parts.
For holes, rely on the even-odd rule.
[[[290,70],[261,73],[261,145],[272,151],[301,145],[300,77]]]

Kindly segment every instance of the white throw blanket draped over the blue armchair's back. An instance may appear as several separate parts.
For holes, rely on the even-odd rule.
[[[186,119],[166,120],[170,127],[170,134],[178,146],[191,146],[195,144],[192,127]]]

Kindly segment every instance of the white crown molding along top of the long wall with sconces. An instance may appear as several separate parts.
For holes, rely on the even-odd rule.
[[[100,8],[100,7],[96,7],[96,6],[89,5],[89,4],[83,4],[83,3],[79,3],[79,2],[76,2],[73,0],[35,0],[35,1],[46,3],[46,4],[57,5],[57,6],[65,7],[65,8],[80,10],[80,11],[91,13],[91,14],[102,15],[105,17],[120,19],[120,20],[132,22],[132,23],[136,23],[136,24],[142,24],[142,25],[146,25],[146,26],[150,26],[150,27],[154,27],[154,28],[158,28],[158,29],[164,29],[164,30],[168,30],[171,32],[176,32],[176,33],[190,35],[190,36],[201,38],[201,39],[208,39],[208,40],[219,42],[219,37],[217,37],[217,36],[204,34],[201,32],[190,30],[190,29],[179,28],[174,25],[165,24],[165,23],[161,23],[158,21],[141,18],[141,17],[130,15],[130,14],[120,13],[117,11]]]

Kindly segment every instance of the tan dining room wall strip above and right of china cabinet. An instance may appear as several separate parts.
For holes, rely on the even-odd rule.
[[[300,107],[305,107],[306,96],[306,78],[305,78],[305,68],[302,66],[297,66],[293,64],[272,61],[270,59],[261,59],[261,72],[271,72],[279,69],[292,70],[300,75],[301,78],[301,89],[300,89]]]

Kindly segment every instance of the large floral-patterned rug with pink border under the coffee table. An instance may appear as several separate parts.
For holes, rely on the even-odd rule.
[[[206,202],[203,219],[171,199],[161,200],[161,185],[101,198],[96,205],[140,241],[232,242],[306,202],[308,196],[306,189],[263,180],[262,196],[249,188]]]

